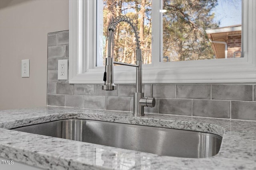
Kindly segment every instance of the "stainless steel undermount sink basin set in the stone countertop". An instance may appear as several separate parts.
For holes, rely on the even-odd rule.
[[[214,156],[222,141],[222,137],[211,133],[83,119],[52,121],[12,130],[186,158]]]

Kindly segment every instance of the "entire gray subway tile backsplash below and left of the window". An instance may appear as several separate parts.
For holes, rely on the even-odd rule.
[[[102,90],[102,84],[69,84],[58,80],[58,60],[69,59],[68,31],[48,34],[49,106],[84,107],[133,111],[135,84],[116,84],[116,90]],[[150,97],[151,84],[142,92]],[[156,106],[145,113],[256,120],[256,84],[153,84]],[[231,115],[231,117],[230,117]]]

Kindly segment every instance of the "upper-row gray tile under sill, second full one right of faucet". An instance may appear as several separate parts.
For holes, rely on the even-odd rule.
[[[210,85],[176,85],[176,98],[210,99]]]

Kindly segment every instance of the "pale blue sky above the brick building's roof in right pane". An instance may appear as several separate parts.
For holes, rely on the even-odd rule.
[[[212,11],[215,21],[220,21],[220,27],[242,23],[242,0],[218,0],[218,6]]]

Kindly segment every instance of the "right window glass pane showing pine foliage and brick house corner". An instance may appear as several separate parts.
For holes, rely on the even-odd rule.
[[[242,0],[162,0],[162,8],[163,62],[241,57]]]

